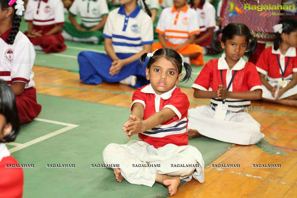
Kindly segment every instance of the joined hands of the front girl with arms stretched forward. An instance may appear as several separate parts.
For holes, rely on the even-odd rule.
[[[129,120],[124,124],[123,130],[127,132],[127,138],[132,135],[143,132],[142,127],[143,121],[135,117],[135,115],[130,115]]]

